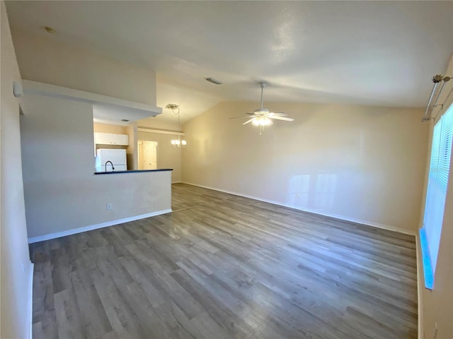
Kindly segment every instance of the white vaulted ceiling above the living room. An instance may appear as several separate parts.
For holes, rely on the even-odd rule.
[[[9,1],[7,9],[12,29],[50,25],[50,39],[154,69],[158,105],[180,104],[183,120],[222,100],[259,102],[263,80],[265,101],[423,107],[430,78],[453,53],[453,1]]]

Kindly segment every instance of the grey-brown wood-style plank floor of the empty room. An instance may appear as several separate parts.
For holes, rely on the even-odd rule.
[[[417,337],[413,236],[185,184],[173,210],[30,245],[33,338]]]

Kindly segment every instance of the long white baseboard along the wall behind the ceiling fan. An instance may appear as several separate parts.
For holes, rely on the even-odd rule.
[[[314,214],[318,214],[318,215],[323,215],[325,217],[336,218],[336,219],[343,220],[343,221],[355,222],[357,224],[362,224],[362,225],[367,225],[367,226],[372,226],[372,227],[378,227],[378,228],[382,228],[384,230],[390,230],[390,231],[399,232],[399,233],[403,233],[403,234],[410,234],[410,235],[413,235],[413,236],[416,236],[416,234],[417,234],[416,231],[406,230],[406,229],[401,228],[401,227],[394,227],[394,226],[390,226],[390,225],[379,224],[377,222],[371,222],[371,221],[367,221],[367,220],[349,218],[349,217],[345,217],[344,215],[337,215],[337,214],[331,214],[331,213],[321,213],[318,210],[309,210],[309,209],[306,209],[306,208],[300,208],[299,206],[294,206],[294,205],[289,205],[289,204],[286,204],[286,203],[281,203],[280,201],[273,201],[273,200],[259,198],[258,196],[249,196],[248,194],[241,194],[241,193],[238,193],[238,192],[226,191],[224,189],[217,189],[216,187],[204,186],[204,185],[200,185],[200,184],[193,184],[191,182],[183,182],[183,184],[188,184],[188,185],[192,185],[192,186],[198,186],[198,187],[202,187],[204,189],[212,189],[214,191],[220,191],[220,192],[224,192],[224,193],[228,193],[228,194],[234,194],[235,196],[243,196],[244,198],[251,198],[253,200],[263,201],[265,203],[273,203],[274,205],[278,205],[278,206],[294,208],[295,210],[302,210],[304,212],[309,212],[309,213],[314,213]]]

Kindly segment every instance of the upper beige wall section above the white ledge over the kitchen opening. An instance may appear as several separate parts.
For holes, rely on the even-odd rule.
[[[154,71],[56,42],[52,37],[13,30],[13,42],[23,79],[156,105]]]

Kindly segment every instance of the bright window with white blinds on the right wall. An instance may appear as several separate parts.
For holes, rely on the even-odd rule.
[[[423,228],[420,243],[423,252],[425,286],[432,289],[437,264],[437,252],[444,219],[445,199],[452,155],[453,105],[434,126],[428,190],[426,192]]]

